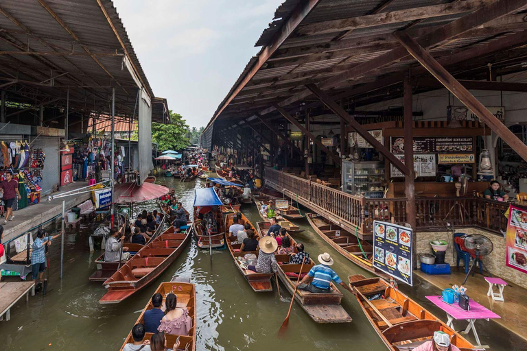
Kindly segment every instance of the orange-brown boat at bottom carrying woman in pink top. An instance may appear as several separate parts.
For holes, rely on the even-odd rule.
[[[165,337],[167,338],[167,346],[169,348],[172,348],[174,343],[176,343],[176,340],[179,337],[179,348],[178,350],[187,350],[187,351],[195,351],[196,350],[196,285],[188,283],[188,282],[162,282],[159,287],[156,289],[155,293],[160,293],[161,296],[163,296],[163,306],[165,306],[165,298],[166,295],[170,292],[175,293],[178,296],[178,308],[187,308],[187,312],[189,313],[190,318],[192,319],[192,327],[189,330],[189,335],[175,335],[175,334],[166,334]],[[141,315],[139,315],[139,318],[137,318],[137,321],[134,323],[142,323],[144,324],[144,315],[145,312],[150,310],[151,308],[154,308],[152,306],[152,303],[150,302],[150,299],[148,300],[148,303],[146,304],[145,308],[143,308],[143,311],[141,312]],[[144,340],[150,340],[152,337],[151,332],[145,333]],[[128,337],[124,340],[123,346],[121,346],[121,351],[124,349],[124,346],[127,343],[134,342],[134,338],[132,337],[132,331],[128,333]]]

